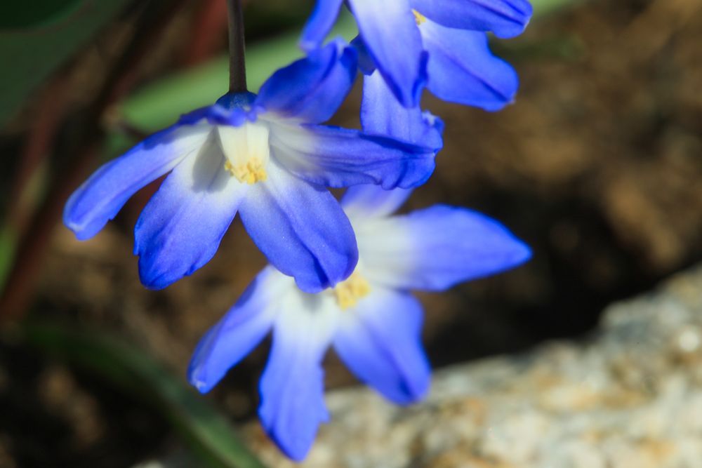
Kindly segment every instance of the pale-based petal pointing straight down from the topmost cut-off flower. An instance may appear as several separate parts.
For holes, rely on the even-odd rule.
[[[414,107],[427,81],[427,54],[409,0],[349,0],[366,48],[392,93]]]

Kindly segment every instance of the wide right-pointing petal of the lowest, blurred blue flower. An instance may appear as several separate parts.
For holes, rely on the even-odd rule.
[[[384,223],[355,227],[366,276],[392,288],[445,290],[531,257],[503,225],[465,208],[435,205]]]

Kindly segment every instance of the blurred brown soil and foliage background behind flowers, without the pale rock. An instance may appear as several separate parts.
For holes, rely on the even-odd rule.
[[[225,1],[28,3],[0,6],[0,467],[180,451],[234,466],[228,431],[255,415],[267,343],[205,398],[184,375],[265,264],[238,219],[206,267],[157,292],[131,253],[157,184],[91,241],[60,225],[100,163],[225,93]],[[246,2],[252,91],[300,55],[313,3]],[[493,46],[521,77],[514,105],[423,100],[445,149],[404,210],[475,208],[534,248],[513,272],[421,295],[437,368],[581,340],[604,306],[702,260],[702,0],[533,3],[527,32]],[[355,36],[352,19],[335,34]],[[359,100],[357,86],[333,123],[358,126]],[[355,383],[332,354],[326,380]]]

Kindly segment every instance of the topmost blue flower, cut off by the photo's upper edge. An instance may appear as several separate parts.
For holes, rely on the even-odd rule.
[[[300,45],[322,43],[342,0],[318,0]],[[347,0],[355,15],[364,72],[378,68],[405,107],[426,86],[442,100],[498,110],[512,102],[517,73],[489,51],[485,32],[520,34],[531,18],[527,0]],[[367,62],[366,65],[363,65]]]

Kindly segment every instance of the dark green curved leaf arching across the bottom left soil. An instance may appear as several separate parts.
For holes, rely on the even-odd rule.
[[[265,468],[217,410],[145,352],[97,330],[28,323],[29,345],[57,354],[153,404],[213,468]]]

